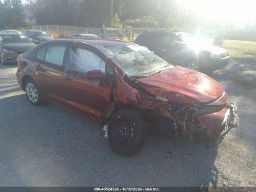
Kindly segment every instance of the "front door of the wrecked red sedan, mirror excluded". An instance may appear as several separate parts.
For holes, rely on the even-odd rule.
[[[89,80],[86,73],[101,70],[105,80]],[[63,75],[64,99],[74,112],[88,118],[99,118],[110,103],[113,69],[94,50],[73,45],[67,53]]]

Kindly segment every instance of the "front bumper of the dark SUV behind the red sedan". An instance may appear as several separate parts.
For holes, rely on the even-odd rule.
[[[229,61],[230,56],[222,59],[206,59],[204,67],[206,70],[215,71],[228,66]]]

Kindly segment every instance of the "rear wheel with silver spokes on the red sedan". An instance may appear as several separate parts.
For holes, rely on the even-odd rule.
[[[43,104],[42,95],[38,89],[36,82],[32,78],[26,80],[25,92],[30,103],[36,106]]]

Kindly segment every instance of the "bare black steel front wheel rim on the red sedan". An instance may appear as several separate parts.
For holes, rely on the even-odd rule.
[[[117,118],[114,124],[114,143],[118,147],[124,147],[130,143],[134,137],[136,125],[134,121],[125,116]]]

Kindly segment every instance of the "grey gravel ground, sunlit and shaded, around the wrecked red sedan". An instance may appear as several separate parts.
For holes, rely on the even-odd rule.
[[[218,148],[148,136],[131,158],[112,152],[97,123],[30,104],[15,73],[0,66],[0,186],[256,186],[255,63],[232,61],[211,75],[240,116]]]

